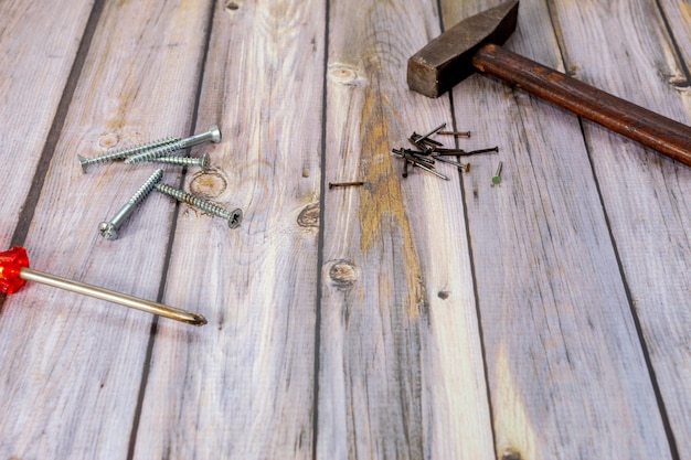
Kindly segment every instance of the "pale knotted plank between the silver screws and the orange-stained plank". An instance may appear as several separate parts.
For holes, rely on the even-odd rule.
[[[227,3],[227,2],[226,2]],[[182,206],[166,299],[203,333],[161,330],[137,458],[312,457],[325,4],[215,2],[198,125],[214,168],[185,189],[244,222]]]

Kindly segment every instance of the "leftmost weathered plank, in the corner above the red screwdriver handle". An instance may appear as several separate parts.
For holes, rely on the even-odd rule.
[[[0,242],[7,247],[32,186],[92,2],[0,3]],[[36,33],[41,31],[42,33]]]

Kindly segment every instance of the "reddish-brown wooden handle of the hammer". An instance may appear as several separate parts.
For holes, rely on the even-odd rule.
[[[493,44],[472,58],[495,75],[550,103],[691,165],[691,128]]]

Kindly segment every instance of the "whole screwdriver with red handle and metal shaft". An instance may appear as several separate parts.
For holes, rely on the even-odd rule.
[[[206,319],[199,314],[162,303],[128,296],[97,286],[86,285],[72,279],[44,274],[29,268],[29,257],[26,249],[21,246],[12,246],[6,252],[0,252],[0,291],[14,293],[20,290],[26,281],[36,281],[55,288],[65,289],[72,292],[95,297],[96,299],[119,303],[125,307],[158,314],[177,321],[182,321],[193,325],[206,324]]]

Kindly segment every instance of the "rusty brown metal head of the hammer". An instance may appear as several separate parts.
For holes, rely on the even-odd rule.
[[[408,87],[437,97],[475,71],[472,56],[486,43],[502,44],[515,30],[518,0],[460,21],[408,60]]]

